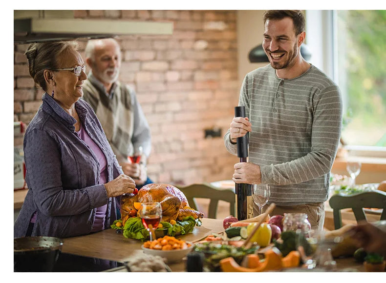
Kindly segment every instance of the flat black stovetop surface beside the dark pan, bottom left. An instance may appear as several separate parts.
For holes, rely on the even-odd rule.
[[[61,253],[53,272],[99,272],[123,265],[123,262]]]

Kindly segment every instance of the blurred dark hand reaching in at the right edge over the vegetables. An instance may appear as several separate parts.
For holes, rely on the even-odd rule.
[[[386,233],[369,222],[359,222],[350,230],[351,239],[366,252],[386,256]]]

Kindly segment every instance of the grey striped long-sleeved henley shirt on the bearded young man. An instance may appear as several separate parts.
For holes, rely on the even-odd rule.
[[[248,162],[260,165],[261,182],[270,184],[269,203],[326,201],[342,129],[338,86],[313,65],[288,80],[267,65],[245,76],[238,105],[252,123]],[[225,146],[236,155],[229,135]]]

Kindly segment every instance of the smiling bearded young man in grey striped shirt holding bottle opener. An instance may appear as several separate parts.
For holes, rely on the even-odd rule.
[[[270,64],[245,76],[238,105],[245,106],[246,118],[234,118],[224,136],[236,155],[236,139],[249,132],[249,160],[235,164],[233,181],[269,183],[273,215],[306,213],[312,228],[322,230],[341,134],[340,90],[302,58],[300,10],[269,10],[263,21]]]

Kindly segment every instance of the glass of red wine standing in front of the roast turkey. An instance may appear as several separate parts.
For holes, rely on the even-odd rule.
[[[149,231],[150,241],[155,240],[154,229],[158,227],[162,217],[162,207],[159,202],[143,202],[138,210],[142,224]]]

